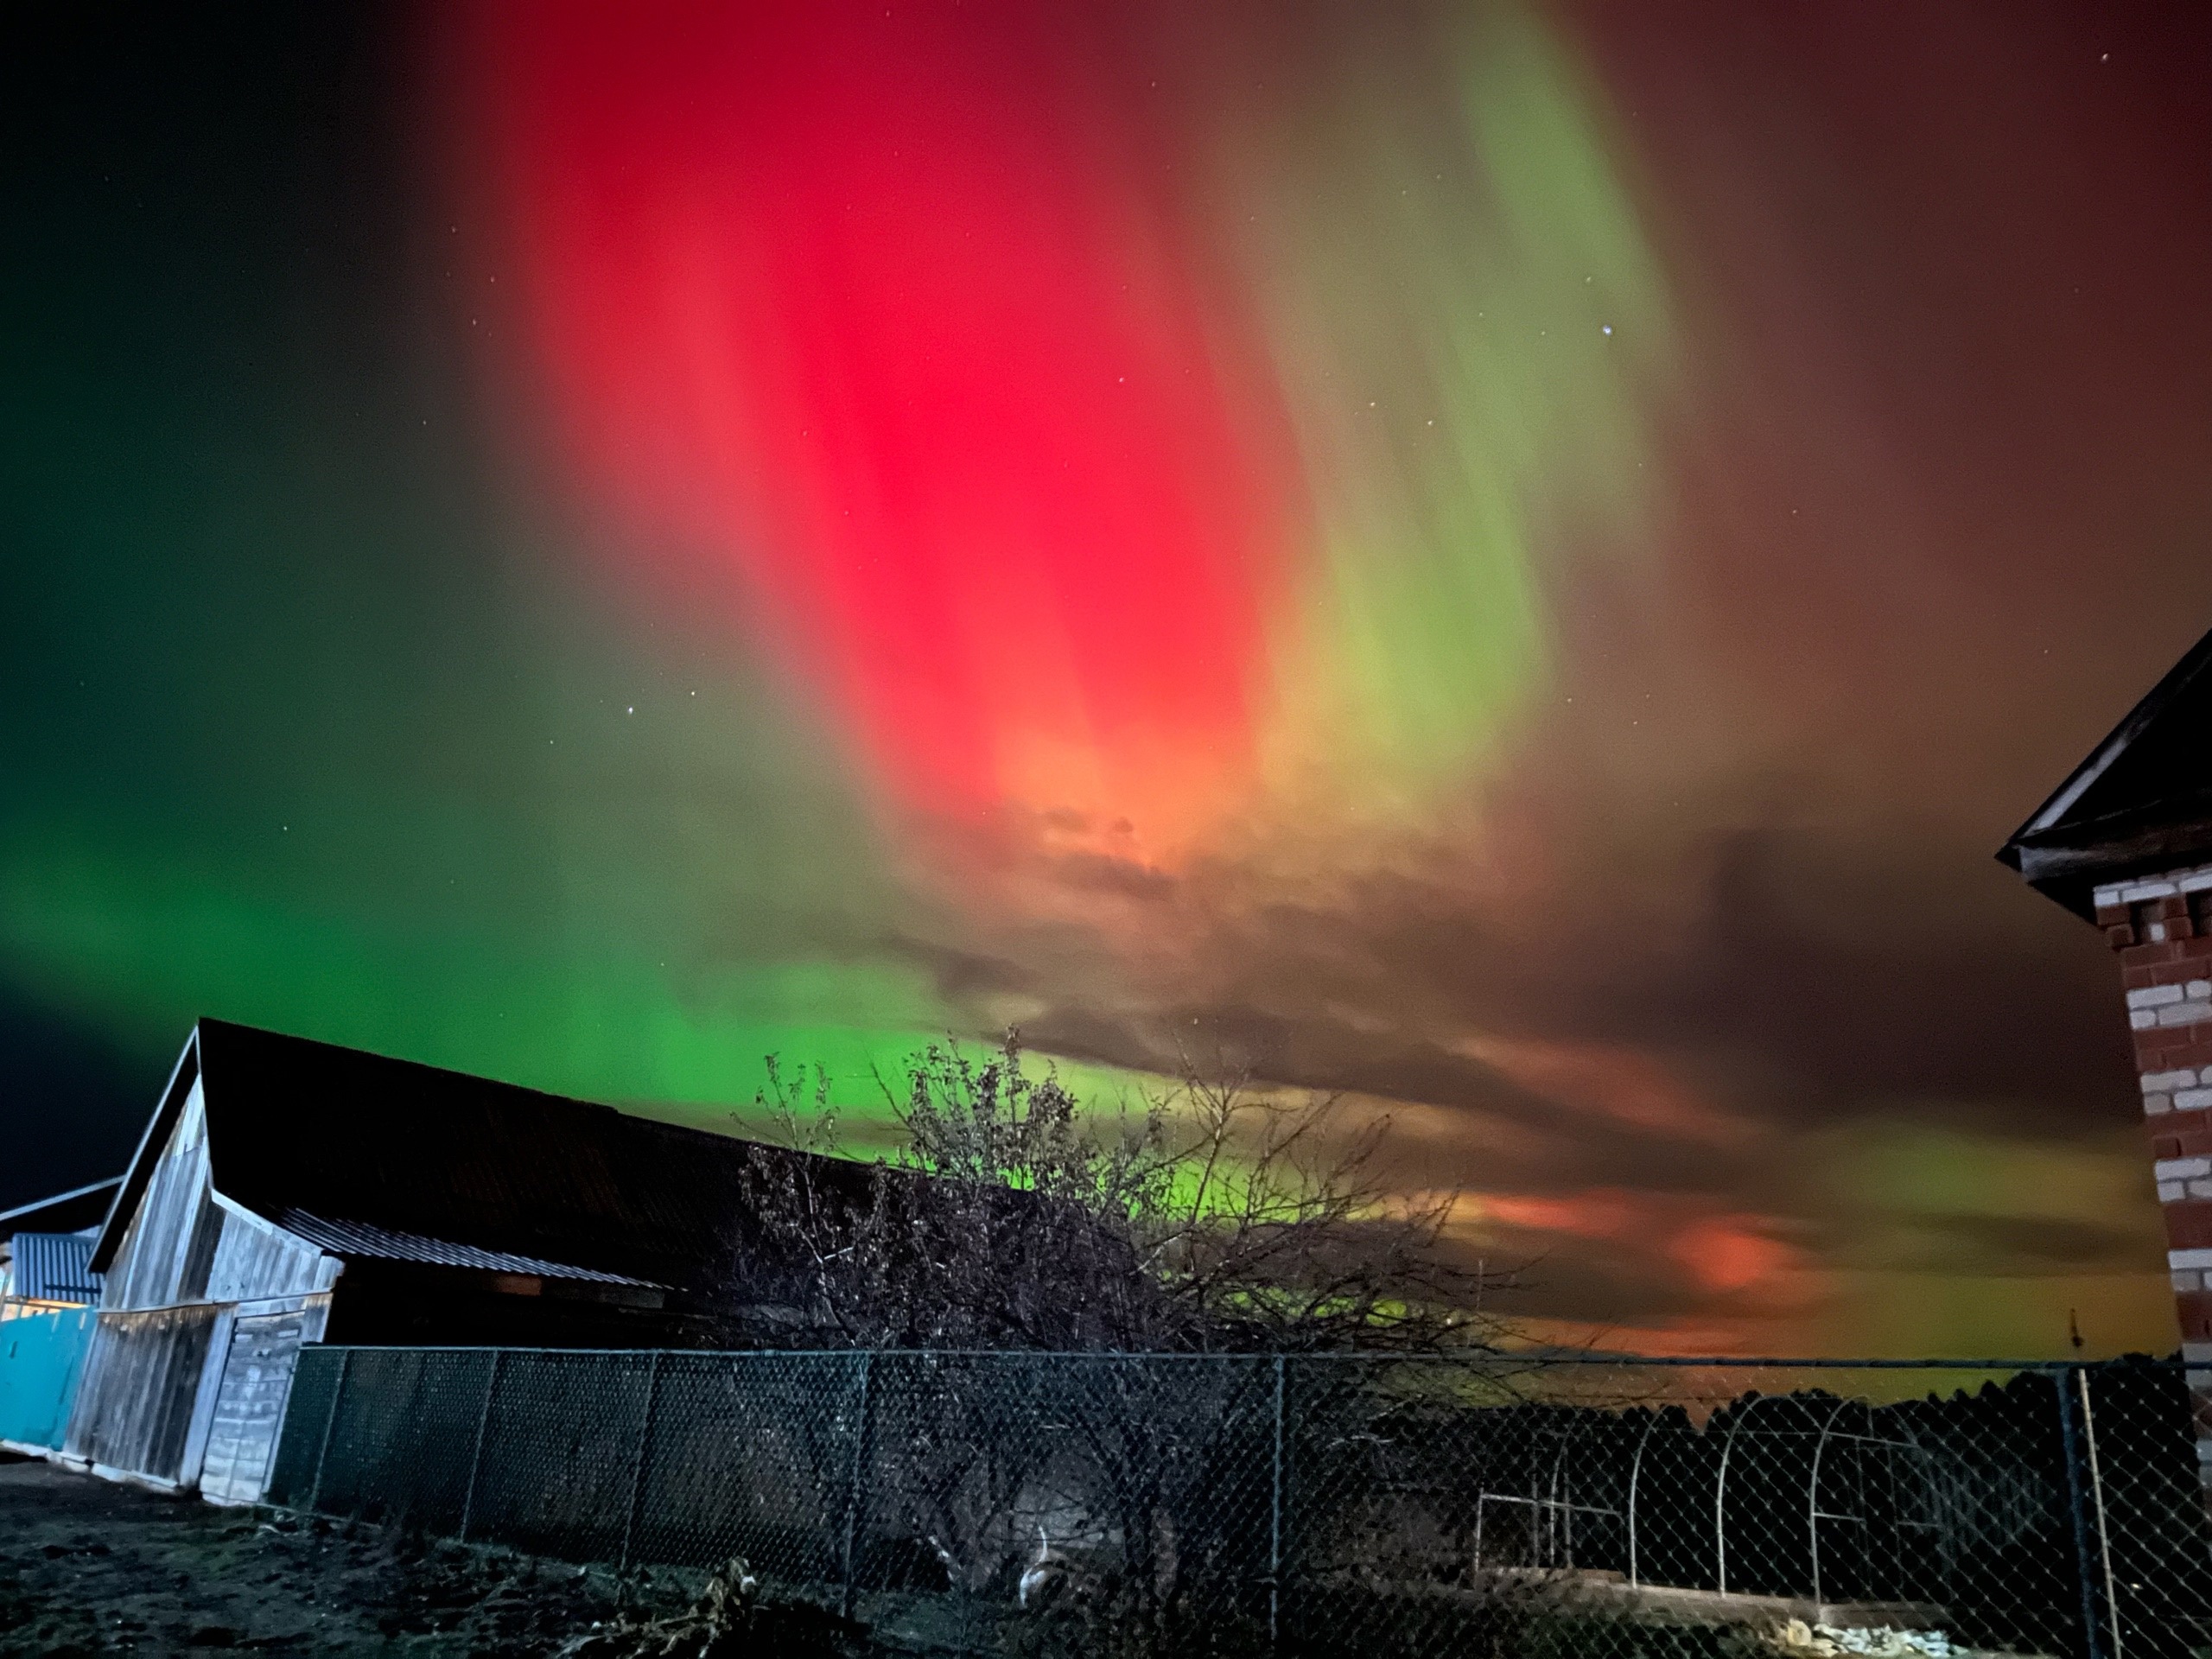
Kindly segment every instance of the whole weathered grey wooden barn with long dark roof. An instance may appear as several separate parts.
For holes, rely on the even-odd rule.
[[[91,1252],[62,1455],[254,1502],[301,1343],[695,1345],[759,1157],[803,1155],[201,1020]]]

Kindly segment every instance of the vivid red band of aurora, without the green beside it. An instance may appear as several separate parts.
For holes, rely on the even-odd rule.
[[[1159,845],[1250,765],[1285,445],[1144,82],[1044,11],[498,7],[478,108],[615,540],[726,571],[898,799]]]

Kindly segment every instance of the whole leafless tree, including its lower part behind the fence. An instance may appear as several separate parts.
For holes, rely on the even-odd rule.
[[[726,1336],[907,1349],[876,1407],[872,1513],[962,1590],[1004,1590],[1057,1537],[1115,1557],[1104,1593],[1159,1626],[1192,1584],[1250,1577],[1230,1555],[1256,1522],[1230,1493],[1254,1491],[1281,1387],[1256,1356],[1498,1336],[1480,1270],[1442,1248],[1451,1201],[1396,1201],[1387,1124],[1336,1099],[1190,1071],[1139,1110],[1084,1113],[1013,1035],[931,1046],[902,1084],[902,1146],[858,1164],[832,1157],[827,1079],[770,1064],[757,1110],[785,1146],[748,1161]],[[1254,1360],[1137,1358],[1159,1354]]]

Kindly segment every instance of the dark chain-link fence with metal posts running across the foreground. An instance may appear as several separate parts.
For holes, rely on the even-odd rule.
[[[2152,1363],[316,1347],[270,1495],[920,1650],[2212,1652]]]

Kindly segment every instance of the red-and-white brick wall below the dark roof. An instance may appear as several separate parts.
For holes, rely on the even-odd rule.
[[[2099,887],[2097,925],[2128,991],[2181,1352],[2212,1365],[2212,865]],[[2190,1383],[2212,1489],[2212,1369]]]

